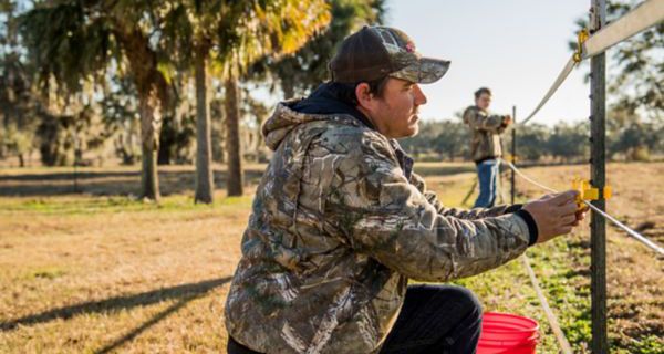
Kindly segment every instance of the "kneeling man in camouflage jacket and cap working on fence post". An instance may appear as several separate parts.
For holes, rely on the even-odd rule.
[[[573,192],[525,207],[444,207],[395,138],[417,132],[418,83],[448,62],[390,28],[349,37],[333,80],[263,125],[258,187],[226,302],[228,352],[473,353],[481,310],[445,282],[567,233]]]

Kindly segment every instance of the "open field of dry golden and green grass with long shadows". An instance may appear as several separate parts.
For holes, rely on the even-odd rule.
[[[239,258],[252,186],[263,166],[247,173],[247,197],[216,195],[194,205],[190,167],[163,169],[164,200],[129,195],[135,168],[0,170],[0,353],[224,353],[224,301]],[[422,164],[416,169],[447,205],[473,183],[473,165]],[[612,164],[609,211],[664,243],[664,163]],[[525,170],[563,189],[585,166]],[[222,169],[216,183],[224,188]],[[520,199],[539,192],[518,180]],[[473,198],[471,198],[473,199]],[[611,342],[615,353],[664,353],[664,267],[652,251],[609,227]],[[575,352],[590,339],[589,233],[528,251]],[[557,353],[520,262],[461,280],[486,310],[537,319],[540,353]]]

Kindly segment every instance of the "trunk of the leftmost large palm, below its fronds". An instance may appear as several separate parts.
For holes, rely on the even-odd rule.
[[[156,90],[139,94],[142,159],[141,197],[159,201],[159,176],[157,175],[157,152],[162,112]]]

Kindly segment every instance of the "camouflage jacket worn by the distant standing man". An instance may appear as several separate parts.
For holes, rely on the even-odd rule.
[[[486,111],[470,106],[464,112],[464,123],[470,127],[470,156],[473,160],[502,156],[500,134],[507,127],[505,117],[489,115]]]

